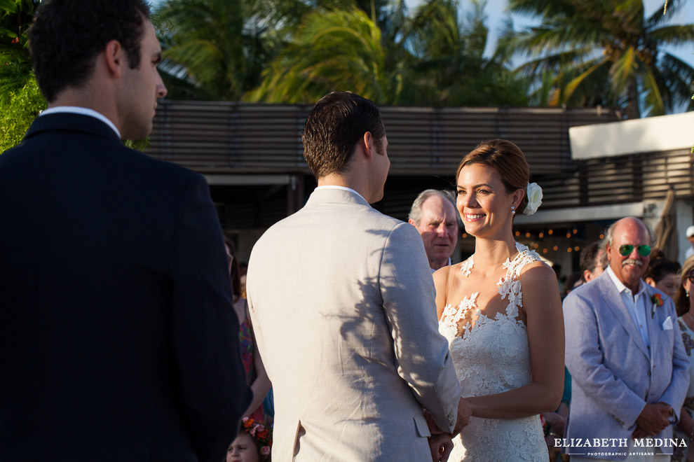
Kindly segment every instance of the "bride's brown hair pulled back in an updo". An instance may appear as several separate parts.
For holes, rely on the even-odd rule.
[[[496,170],[506,188],[506,193],[513,193],[517,189],[523,190],[523,199],[517,207],[522,214],[528,204],[526,186],[530,180],[530,169],[525,160],[523,151],[508,139],[493,139],[477,145],[466,155],[458,165],[456,183],[465,165],[482,164]]]

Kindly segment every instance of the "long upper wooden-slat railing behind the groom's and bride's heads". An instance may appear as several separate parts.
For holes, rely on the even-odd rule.
[[[164,101],[148,153],[206,174],[304,172],[311,106]],[[391,175],[445,174],[480,141],[508,138],[535,174],[573,168],[569,127],[616,120],[606,109],[381,108]]]

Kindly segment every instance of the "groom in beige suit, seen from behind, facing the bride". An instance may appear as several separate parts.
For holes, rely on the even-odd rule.
[[[421,237],[369,206],[390,167],[379,109],[333,92],[302,138],[318,188],[261,237],[247,274],[275,398],[273,461],[438,459],[422,408],[446,433],[470,410],[437,332]]]

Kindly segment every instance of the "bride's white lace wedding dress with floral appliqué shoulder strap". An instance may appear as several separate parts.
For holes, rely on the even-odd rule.
[[[506,276],[497,284],[501,299],[508,300],[505,314],[484,316],[477,308],[479,293],[472,293],[458,306],[448,304],[441,316],[439,332],[448,339],[463,396],[492,395],[531,382],[528,334],[524,323],[517,319],[523,304],[518,277],[525,265],[540,258],[522,244],[516,243],[516,248],[519,253],[503,264]],[[473,264],[472,257],[463,262],[463,276],[470,274]],[[459,328],[460,321],[470,316],[472,328],[470,323]],[[454,438],[449,461],[538,462],[548,458],[540,416],[536,415],[522,419],[470,418],[468,426]]]

